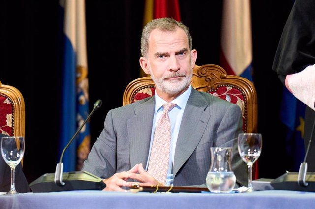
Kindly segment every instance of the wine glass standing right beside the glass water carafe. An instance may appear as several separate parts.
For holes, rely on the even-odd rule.
[[[262,136],[260,133],[240,133],[237,139],[237,148],[243,161],[248,167],[248,191],[252,188],[252,165],[260,156],[262,148]]]

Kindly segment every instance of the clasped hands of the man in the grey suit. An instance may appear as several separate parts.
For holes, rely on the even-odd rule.
[[[129,179],[139,182],[129,182]],[[145,171],[142,163],[136,164],[128,171],[115,173],[108,179],[104,179],[103,182],[106,184],[106,188],[104,188],[103,191],[127,192],[128,190],[122,187],[131,187],[132,184],[138,184],[139,186],[162,185],[162,183],[158,182],[158,180]]]

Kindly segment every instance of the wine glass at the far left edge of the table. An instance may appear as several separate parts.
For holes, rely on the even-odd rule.
[[[11,188],[4,195],[19,194],[15,190],[15,167],[21,162],[24,155],[24,137],[8,136],[1,138],[1,154],[11,168]]]

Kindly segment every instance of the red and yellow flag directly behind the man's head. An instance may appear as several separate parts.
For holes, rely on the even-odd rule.
[[[145,0],[143,26],[153,19],[171,17],[181,21],[178,0]],[[140,77],[146,76],[140,69]]]

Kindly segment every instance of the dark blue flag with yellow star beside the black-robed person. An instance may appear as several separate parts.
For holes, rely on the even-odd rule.
[[[291,161],[291,171],[299,171],[304,160],[304,116],[305,104],[284,87],[280,119],[286,127],[286,154]]]

